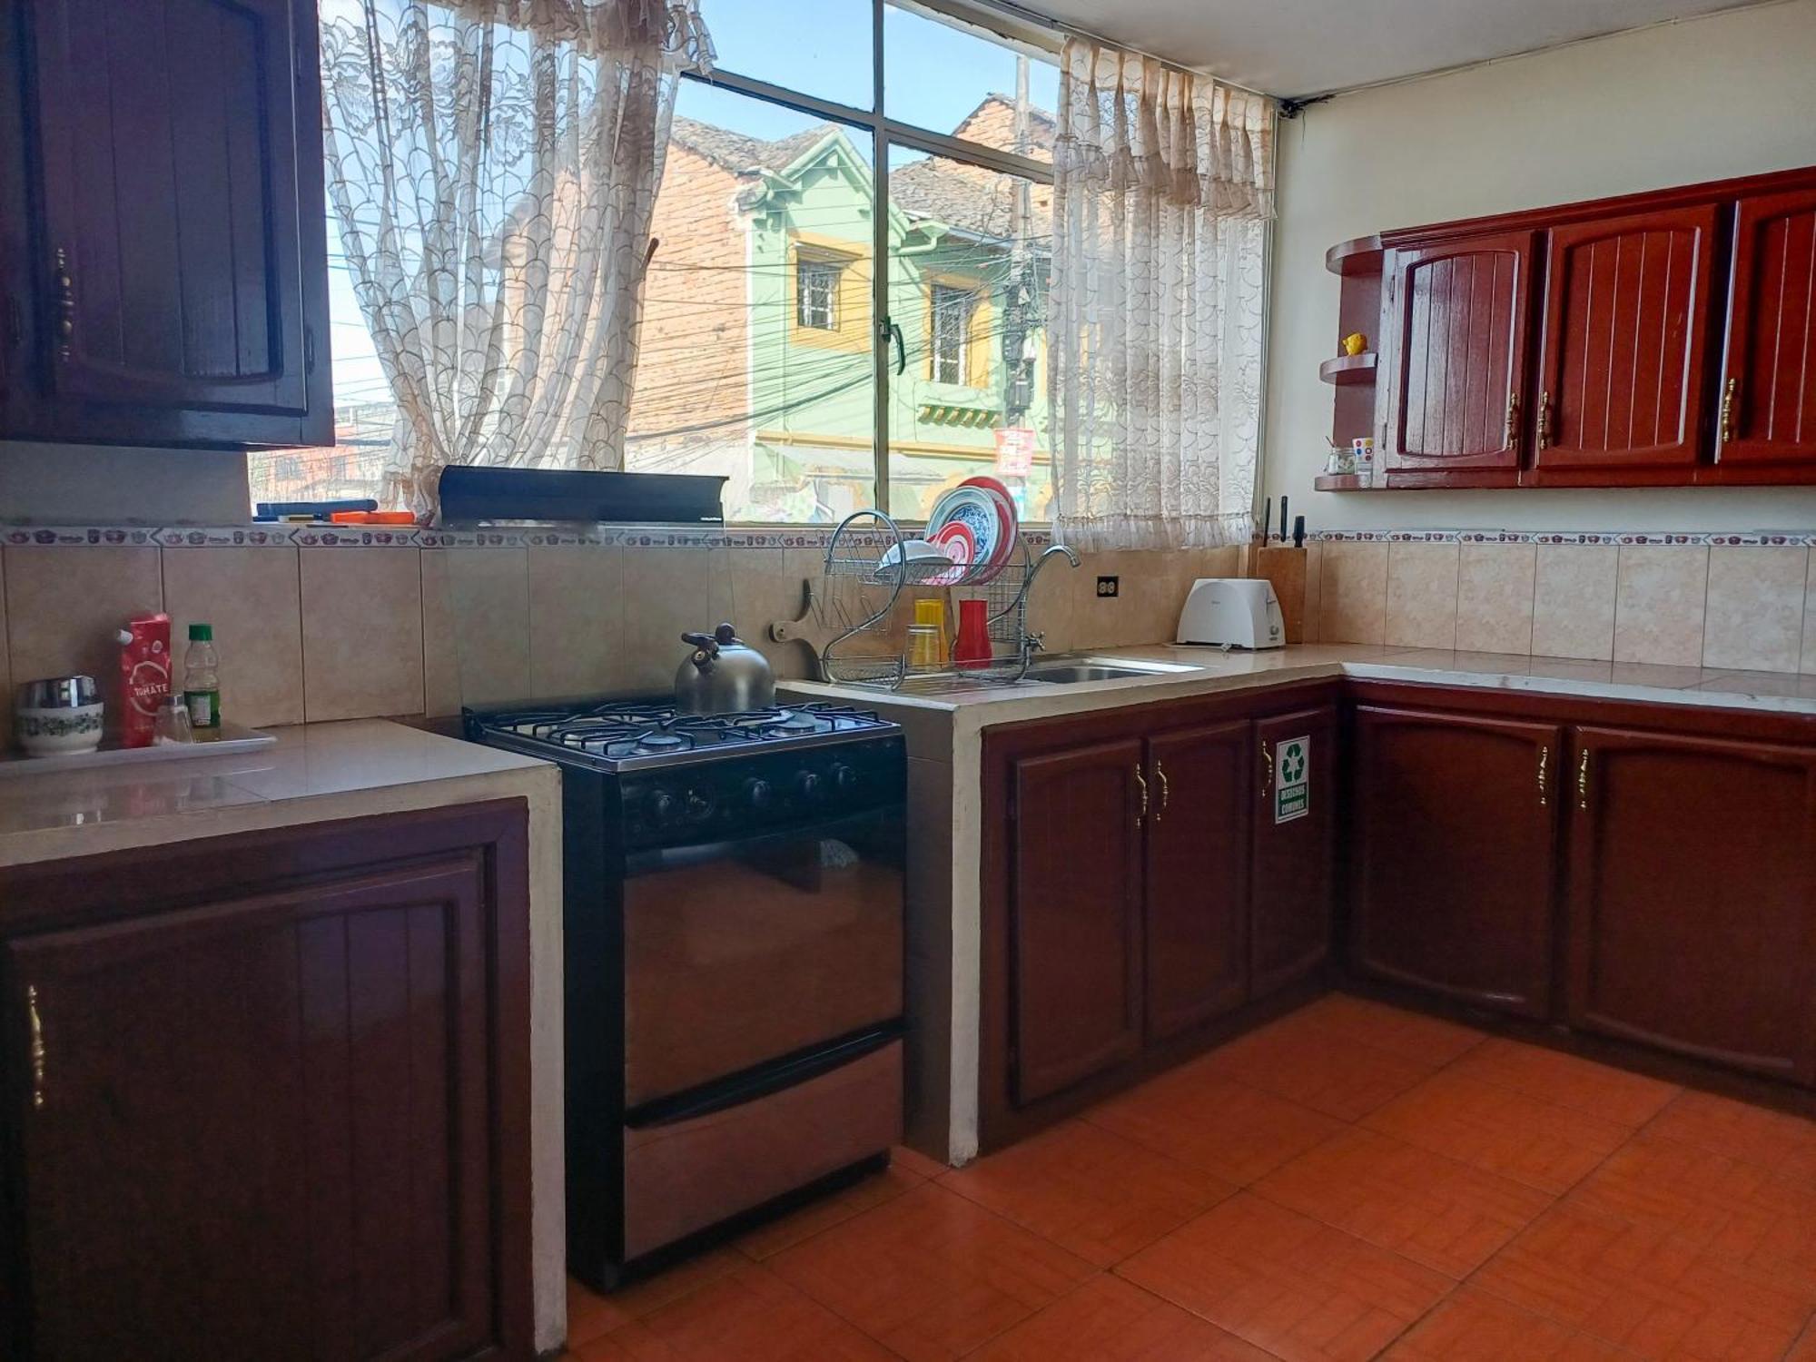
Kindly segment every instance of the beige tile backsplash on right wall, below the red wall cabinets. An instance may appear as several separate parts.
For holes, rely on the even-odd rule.
[[[1807,534],[1331,534],[1320,643],[1816,672]]]

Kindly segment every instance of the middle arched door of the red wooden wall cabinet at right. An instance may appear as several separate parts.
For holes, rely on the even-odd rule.
[[[1714,234],[1714,203],[1551,229],[1540,474],[1696,461]]]

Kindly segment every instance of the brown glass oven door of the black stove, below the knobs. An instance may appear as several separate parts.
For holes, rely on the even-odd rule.
[[[636,852],[625,1108],[873,1031],[903,1010],[903,810]]]

